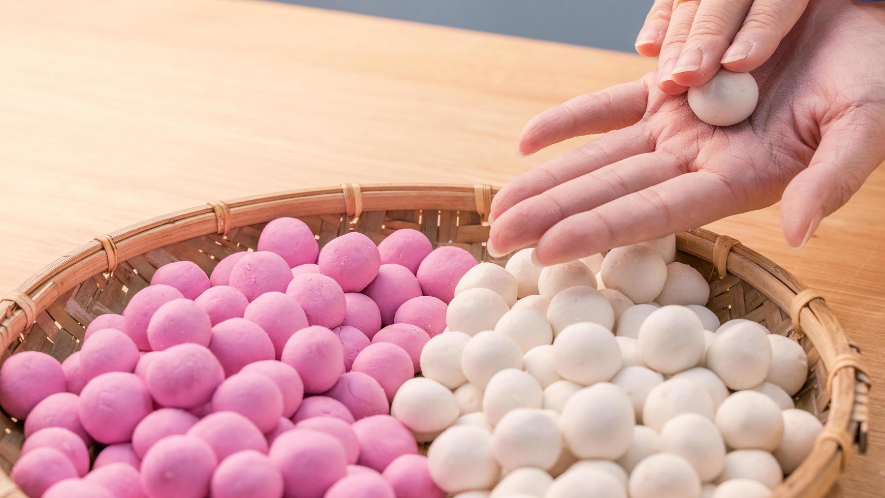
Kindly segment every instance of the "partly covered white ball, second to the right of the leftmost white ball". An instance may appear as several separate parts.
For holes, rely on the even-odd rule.
[[[496,425],[510,410],[541,408],[543,390],[534,377],[515,368],[496,372],[482,395],[482,410],[491,425]]]

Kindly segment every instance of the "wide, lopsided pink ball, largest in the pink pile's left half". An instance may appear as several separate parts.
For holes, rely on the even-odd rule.
[[[224,369],[212,351],[179,344],[150,360],[145,383],[159,405],[189,410],[209,402],[222,380]]]

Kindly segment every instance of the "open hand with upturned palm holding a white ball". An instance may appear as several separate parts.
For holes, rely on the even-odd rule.
[[[778,199],[787,241],[802,246],[885,159],[885,8],[812,1],[753,76],[758,106],[735,126],[697,119],[656,73],[536,116],[521,154],[617,131],[508,183],[489,253],[537,242],[537,259],[555,264]]]

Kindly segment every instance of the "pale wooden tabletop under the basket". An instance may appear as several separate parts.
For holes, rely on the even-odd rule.
[[[632,80],[638,56],[265,2],[0,5],[0,290],[97,234],[214,199],[342,181],[504,184],[522,125]],[[869,454],[834,496],[885,489],[885,171],[789,250],[772,208],[710,228],[827,297],[873,381]]]

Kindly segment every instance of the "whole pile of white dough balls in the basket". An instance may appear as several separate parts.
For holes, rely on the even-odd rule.
[[[457,498],[761,498],[822,426],[796,341],[704,308],[675,237],[458,283],[391,415]]]

